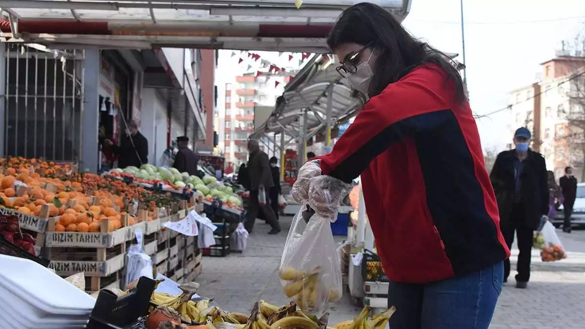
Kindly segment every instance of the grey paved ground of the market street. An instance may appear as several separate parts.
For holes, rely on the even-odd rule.
[[[281,219],[283,232],[267,235],[270,227],[256,222],[243,254],[226,258],[204,257],[198,293],[213,297],[228,311],[249,313],[254,301],[264,299],[278,306],[288,302],[278,279],[278,265],[291,218]],[[565,234],[557,231],[567,251],[567,259],[543,263],[533,250],[532,276],[528,289],[515,289],[512,279],[498,300],[490,328],[569,329],[585,324],[585,231]],[[512,246],[512,263],[518,255]],[[512,269],[514,269],[512,265]],[[512,272],[513,273],[513,272]],[[330,305],[329,323],[350,320],[360,311],[349,296]]]

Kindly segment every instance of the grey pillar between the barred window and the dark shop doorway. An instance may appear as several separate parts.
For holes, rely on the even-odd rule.
[[[84,102],[87,111],[82,112],[83,146],[80,170],[92,173],[98,170],[98,122],[99,122],[99,50],[85,50],[83,60]]]

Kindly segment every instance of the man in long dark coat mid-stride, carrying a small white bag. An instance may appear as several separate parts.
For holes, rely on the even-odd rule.
[[[246,215],[245,227],[248,232],[252,232],[254,222],[261,210],[264,214],[264,220],[272,227],[268,234],[277,234],[280,232],[280,223],[270,207],[270,188],[274,186],[274,180],[270,171],[270,164],[268,155],[260,150],[257,140],[248,141],[248,175],[250,179],[250,203],[248,205],[248,213]],[[264,203],[260,204],[259,193],[264,193]]]

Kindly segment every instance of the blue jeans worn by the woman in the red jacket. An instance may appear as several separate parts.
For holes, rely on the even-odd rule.
[[[390,282],[390,329],[487,329],[502,291],[504,263],[433,283]]]

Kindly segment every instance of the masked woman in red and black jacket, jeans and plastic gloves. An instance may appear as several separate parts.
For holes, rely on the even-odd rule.
[[[488,328],[510,251],[459,73],[373,4],[346,9],[328,44],[364,106],[293,197],[332,218],[339,186],[361,175],[390,328]]]

